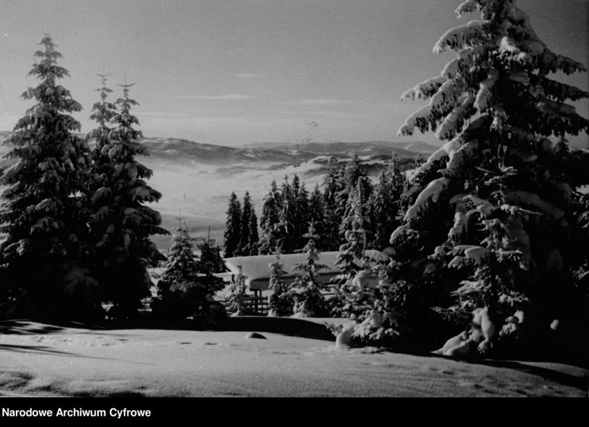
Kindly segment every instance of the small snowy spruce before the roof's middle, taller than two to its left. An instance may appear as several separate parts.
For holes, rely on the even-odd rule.
[[[309,231],[305,234],[308,239],[303,251],[306,254],[304,263],[294,266],[294,272],[297,272],[297,278],[290,285],[288,294],[294,299],[292,311],[295,317],[324,317],[328,315],[328,307],[321,290],[324,284],[319,282],[319,272],[326,269],[327,266],[319,264],[319,250],[315,246],[318,236],[315,234],[315,227],[311,223]]]

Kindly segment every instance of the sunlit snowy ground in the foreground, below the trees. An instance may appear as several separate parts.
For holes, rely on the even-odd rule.
[[[0,396],[588,396],[585,368],[336,350],[326,320],[232,318],[224,332],[3,322]]]

